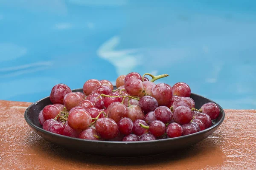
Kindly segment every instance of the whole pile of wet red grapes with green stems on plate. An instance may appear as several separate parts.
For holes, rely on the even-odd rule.
[[[220,114],[218,105],[209,102],[195,109],[186,83],[173,87],[154,83],[167,76],[121,75],[116,90],[108,80],[90,79],[84,83],[84,93],[57,84],[50,93],[52,105],[39,113],[39,122],[52,133],[108,141],[166,139],[210,127]]]

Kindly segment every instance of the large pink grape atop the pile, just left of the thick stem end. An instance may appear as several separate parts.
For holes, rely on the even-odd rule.
[[[140,79],[129,78],[125,81],[125,91],[131,96],[139,96],[143,92],[143,82]]]

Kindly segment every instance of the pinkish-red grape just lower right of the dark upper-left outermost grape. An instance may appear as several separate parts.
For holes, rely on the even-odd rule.
[[[66,96],[64,96],[64,105],[67,108],[67,110],[70,110],[76,105],[78,105],[79,102],[81,102],[83,99],[84,97],[82,97],[80,94],[71,92],[66,94]]]

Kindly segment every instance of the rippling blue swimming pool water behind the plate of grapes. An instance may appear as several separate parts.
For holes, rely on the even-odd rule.
[[[255,109],[255,30],[253,0],[0,0],[0,99],[136,71]]]

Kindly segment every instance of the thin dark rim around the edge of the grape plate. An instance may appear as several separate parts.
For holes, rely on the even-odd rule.
[[[79,91],[81,90],[81,88],[78,88],[78,89],[73,89],[73,91]],[[191,93],[191,94],[194,94],[194,93]],[[200,97],[204,97],[204,96],[201,96],[201,95],[198,95],[198,94],[194,94],[194,95],[197,95],[197,96],[200,96]],[[192,134],[189,134],[189,135],[186,135],[186,136],[179,136],[179,137],[175,137],[175,138],[167,138],[167,139],[158,139],[158,140],[153,140],[153,141],[136,141],[136,142],[122,142],[122,141],[96,141],[96,140],[87,140],[87,139],[79,139],[79,138],[73,138],[73,137],[69,137],[69,136],[64,136],[64,135],[60,135],[60,134],[56,134],[56,133],[52,133],[52,132],[49,132],[47,130],[44,130],[43,128],[41,127],[38,127],[36,126],[34,123],[32,123],[28,116],[27,116],[27,113],[28,113],[28,110],[29,108],[31,108],[33,105],[36,105],[36,103],[40,102],[41,100],[44,100],[46,98],[48,98],[49,96],[47,97],[44,97],[43,99],[39,99],[38,101],[32,103],[31,105],[29,105],[29,107],[26,109],[25,113],[24,113],[24,119],[26,120],[27,124],[29,124],[31,127],[35,128],[36,130],[39,130],[41,131],[42,133],[47,133],[49,135],[52,135],[52,136],[58,136],[58,137],[61,137],[61,138],[66,138],[66,139],[71,139],[71,140],[76,140],[76,141],[80,141],[80,142],[93,142],[93,143],[105,143],[105,144],[138,144],[138,143],[154,143],[154,142],[164,142],[164,141],[172,141],[172,140],[178,140],[178,139],[183,139],[183,138],[189,138],[190,136],[197,136],[199,134],[202,134],[202,133],[206,133],[208,131],[211,131],[213,130],[215,127],[218,127],[219,125],[221,125],[221,123],[224,121],[224,118],[225,118],[225,112],[223,110],[223,108],[216,102],[214,102],[213,100],[211,99],[208,99],[207,97],[204,97],[205,99],[208,99],[210,102],[214,102],[215,104],[218,105],[218,107],[220,108],[220,111],[223,112],[223,115],[221,117],[221,119],[215,123],[214,125],[212,125],[211,127],[208,127],[207,129],[205,130],[202,130],[200,132],[196,132],[196,133],[192,133]]]

